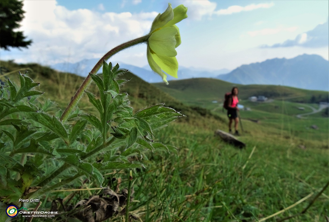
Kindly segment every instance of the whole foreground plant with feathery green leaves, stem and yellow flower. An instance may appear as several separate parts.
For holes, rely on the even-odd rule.
[[[119,69],[118,64],[107,64],[105,60],[127,47],[146,42],[149,62],[153,58],[151,68],[163,78],[165,74],[161,70],[171,75],[166,67],[170,66],[172,58],[176,61],[175,48],[180,44],[179,30],[174,24],[186,18],[186,10],[184,6],[172,10],[169,4],[168,9],[154,20],[149,34],[105,54],[64,112],[49,100],[44,103],[38,101],[37,97],[42,92],[35,88],[39,83],[34,82],[27,72],[19,73],[20,86],[10,79],[0,86],[0,220],[8,218],[5,212],[9,205],[19,208],[31,206],[31,202],[20,199],[41,201],[43,198],[46,201],[52,190],[63,186],[79,188],[87,181],[96,187],[106,187],[108,181],[103,175],[109,171],[143,167],[141,163],[132,162],[132,156],[155,148],[176,151],[176,147],[154,142],[153,131],[182,114],[164,104],[153,105],[134,114],[128,95],[120,92],[120,86],[126,82],[124,73],[127,70]],[[170,43],[161,46],[165,39]],[[167,53],[169,46],[170,53]],[[150,57],[149,53],[152,54]],[[171,70],[176,69],[176,63]],[[96,75],[101,66],[102,74]],[[99,96],[87,91],[91,79],[99,90]],[[96,108],[97,115],[75,109],[84,93]],[[77,179],[85,181],[77,182]],[[58,216],[75,214],[82,221],[104,221],[118,213],[118,207],[125,202],[128,209],[124,211],[129,212],[130,186],[131,183],[128,193],[122,194],[106,189],[103,199],[102,195],[98,199],[93,197],[94,207],[88,207],[91,199],[80,201],[71,207],[75,212],[61,212]],[[126,199],[122,200],[121,196]],[[102,204],[97,205],[98,202]],[[56,209],[57,205],[52,204],[52,208]]]

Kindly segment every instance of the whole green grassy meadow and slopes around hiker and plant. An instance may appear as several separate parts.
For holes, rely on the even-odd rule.
[[[53,100],[61,109],[83,81],[82,77],[38,64],[1,61],[1,66],[8,72],[30,68],[31,78],[40,82],[39,90],[45,92],[39,101]],[[18,82],[17,72],[6,78]],[[185,115],[154,132],[155,142],[173,145],[176,150],[156,149],[134,157],[145,166],[133,172],[134,200],[130,211],[134,221],[329,220],[329,189],[320,193],[329,181],[328,117],[324,117],[323,110],[296,118],[297,114],[312,112],[309,106],[317,109],[319,101],[328,100],[328,92],[237,85],[240,104],[251,109],[240,111],[243,132],[240,129],[239,139],[246,148],[238,149],[214,135],[216,129],[228,131],[221,103],[224,94],[236,84],[206,78],[149,84],[131,73],[124,78],[130,81],[122,91],[129,94],[135,111],[165,103]],[[92,83],[89,91],[96,92],[95,88]],[[273,101],[248,100],[258,95]],[[87,96],[78,107],[86,113],[95,112]],[[114,181],[109,183],[113,187],[118,181],[122,181],[121,188],[128,187],[128,170],[114,170],[105,177]],[[96,184],[86,183],[84,188],[95,187]],[[73,197],[63,207],[74,206],[101,191],[53,192],[40,197],[40,208],[50,209],[53,200],[67,200],[72,192]],[[118,214],[108,221],[124,220]]]

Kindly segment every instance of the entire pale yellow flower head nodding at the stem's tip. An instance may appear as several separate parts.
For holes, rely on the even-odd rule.
[[[151,69],[168,84],[167,74],[177,78],[178,62],[175,48],[181,44],[181,36],[176,23],[187,18],[184,5],[168,8],[154,19],[147,41],[147,60]],[[165,73],[164,73],[165,72]]]

